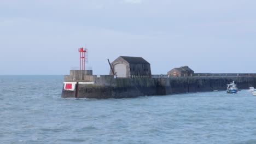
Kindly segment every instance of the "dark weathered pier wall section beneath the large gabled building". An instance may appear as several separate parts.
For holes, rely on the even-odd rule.
[[[78,98],[133,98],[158,93],[155,79],[113,79],[113,76],[94,78],[94,85],[78,85]]]

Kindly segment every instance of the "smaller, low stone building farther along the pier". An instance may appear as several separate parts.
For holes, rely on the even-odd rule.
[[[170,76],[193,76],[194,71],[190,69],[188,66],[180,67],[180,68],[174,68],[170,71],[168,71],[167,75]]]

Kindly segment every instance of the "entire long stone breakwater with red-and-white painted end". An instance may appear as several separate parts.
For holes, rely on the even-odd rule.
[[[84,72],[85,73],[85,72]],[[239,89],[256,87],[256,76],[193,76],[115,78],[113,75],[65,76],[62,98],[135,98],[189,92],[225,91],[235,81]]]

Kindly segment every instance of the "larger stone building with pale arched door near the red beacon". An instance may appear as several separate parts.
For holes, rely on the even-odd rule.
[[[151,76],[150,63],[142,57],[120,56],[111,65],[117,77]],[[110,70],[110,75],[113,75],[112,70]]]

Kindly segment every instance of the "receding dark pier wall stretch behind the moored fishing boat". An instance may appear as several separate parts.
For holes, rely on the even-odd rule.
[[[235,81],[239,89],[255,87],[256,76],[226,76],[226,77],[176,77],[167,78],[166,94],[188,92],[225,91],[226,85]]]

